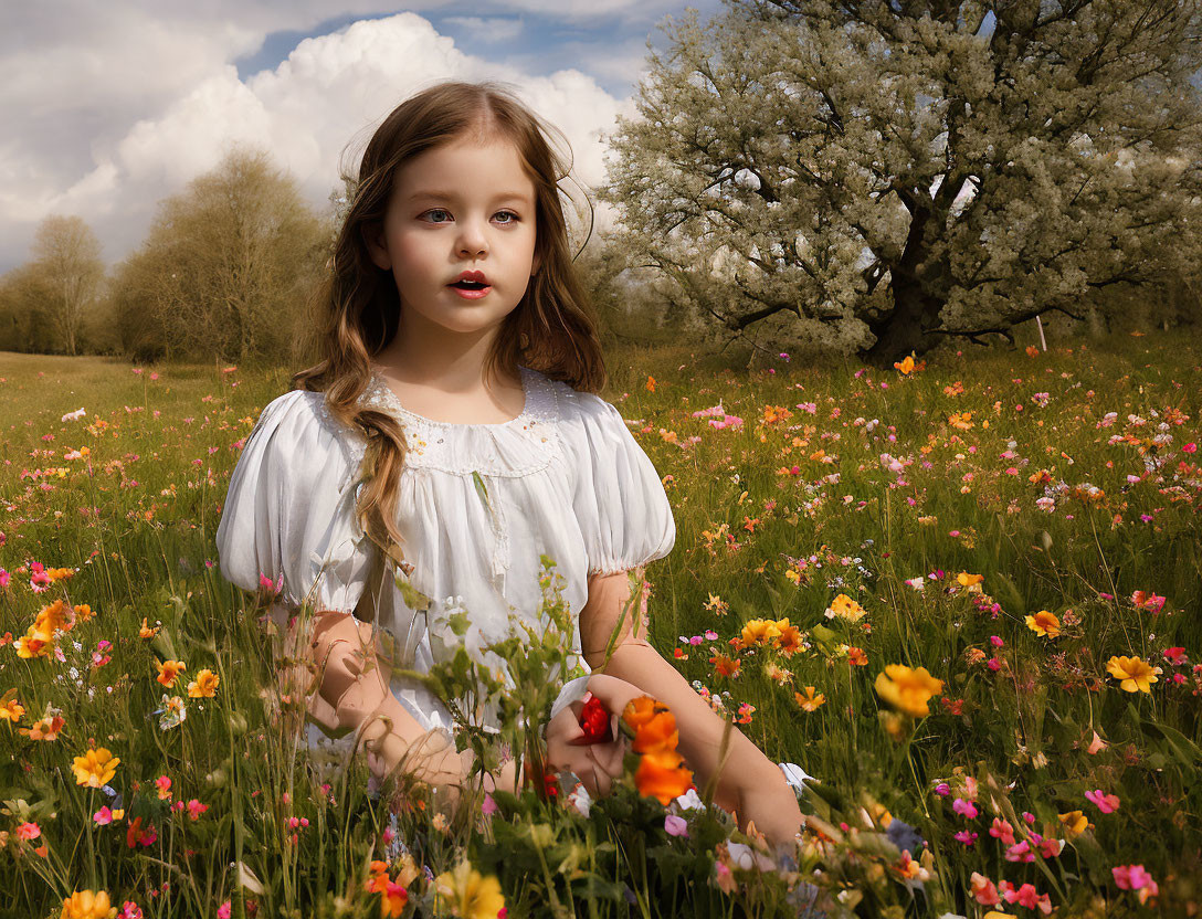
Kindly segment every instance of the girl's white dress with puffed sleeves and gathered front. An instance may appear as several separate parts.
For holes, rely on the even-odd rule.
[[[376,625],[393,637],[400,667],[428,672],[450,656],[462,639],[436,620],[460,598],[471,617],[469,645],[502,638],[511,611],[536,623],[545,554],[557,563],[572,611],[576,656],[569,666],[588,673],[579,611],[589,575],[647,565],[676,543],[660,477],[618,410],[536,370],[523,366],[520,375],[525,407],[496,424],[423,418],[404,408],[379,375],[362,396],[405,429],[397,524],[413,566],[410,583],[432,602],[415,613],[385,580]],[[222,574],[251,591],[261,574],[282,578],[281,599],[291,607],[309,595],[313,609],[353,611],[379,551],[353,514],[365,446],[327,412],[323,393],[274,399],[230,479],[216,533]],[[392,691],[427,730],[450,734],[450,711],[422,684],[394,678]],[[581,691],[577,682],[564,693]],[[495,711],[486,709],[481,723],[493,729]],[[309,741],[325,742],[315,724]]]

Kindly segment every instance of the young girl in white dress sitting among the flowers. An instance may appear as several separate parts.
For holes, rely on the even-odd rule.
[[[666,703],[696,783],[721,766],[718,804],[792,843],[796,766],[783,771],[737,728],[721,765],[722,720],[645,629],[626,625],[606,663],[626,572],[666,556],[676,523],[650,459],[595,394],[606,371],[546,130],[490,83],[434,85],[376,130],[320,293],[322,359],[246,440],[218,529],[221,569],[248,590],[282,580],[281,622],[304,599],[320,611],[314,722],[353,728],[381,771],[426,752],[413,771],[456,786],[470,752],[454,752],[447,708],[418,681],[386,681],[373,657],[428,670],[459,640],[436,614],[460,604],[477,641],[499,640],[511,613],[535,622],[546,554],[577,614],[573,650],[587,670],[605,664],[588,690],[611,711],[644,693]],[[398,566],[432,598],[424,614],[386,575]],[[603,794],[620,756],[572,742],[567,703],[582,688],[557,702],[548,754]],[[514,770],[486,787],[512,788]]]

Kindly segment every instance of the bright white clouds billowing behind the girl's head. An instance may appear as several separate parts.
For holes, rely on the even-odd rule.
[[[242,6],[250,7],[248,16]],[[320,6],[305,2],[298,16],[315,18]],[[106,259],[124,257],[141,241],[156,202],[213,168],[236,143],[266,148],[310,203],[325,207],[344,149],[347,159],[361,151],[398,102],[442,79],[508,84],[564,131],[575,174],[589,185],[605,174],[599,133],[612,130],[619,112],[630,113],[629,102],[581,71],[530,76],[465,54],[416,13],[308,38],[274,70],[243,80],[228,61],[258,47],[273,11],[266,4],[238,8],[230,20],[242,23],[239,29],[191,35],[138,19],[127,7],[112,11],[105,25],[105,17],[89,12],[88,23],[99,30],[89,41],[99,50],[83,54],[83,36],[65,36],[65,47],[52,55],[60,76],[44,93],[18,73],[32,61],[0,47],[0,79],[20,88],[0,102],[0,117],[13,127],[0,142],[0,270],[28,257],[36,223],[48,214],[78,214],[105,240]],[[44,159],[49,145],[78,136],[72,121],[89,106],[99,106],[102,117],[89,132],[85,161]]]

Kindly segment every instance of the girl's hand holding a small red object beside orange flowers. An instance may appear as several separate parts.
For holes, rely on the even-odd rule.
[[[569,704],[547,723],[547,759],[552,770],[576,775],[590,798],[602,798],[613,788],[623,771],[623,759],[630,742],[618,729],[618,720],[631,699],[645,693],[615,676],[594,674],[588,690],[609,712],[609,741],[589,744],[581,727],[585,699]]]

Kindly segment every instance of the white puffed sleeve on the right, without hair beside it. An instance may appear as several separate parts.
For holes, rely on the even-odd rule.
[[[650,456],[613,405],[593,393],[572,393],[571,402],[572,505],[588,573],[611,574],[662,559],[676,544],[676,520]]]

